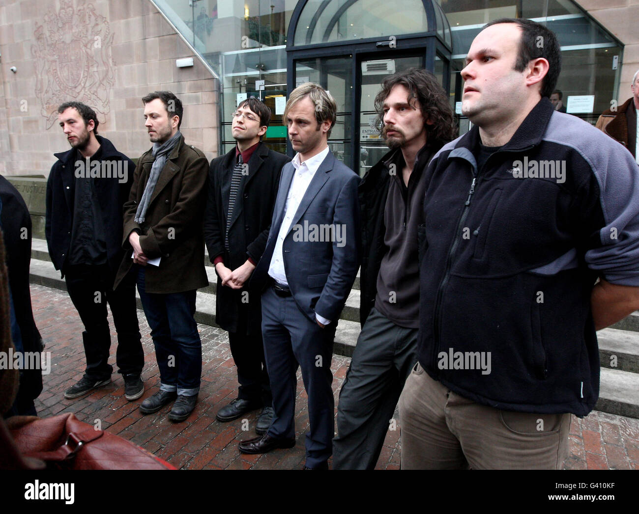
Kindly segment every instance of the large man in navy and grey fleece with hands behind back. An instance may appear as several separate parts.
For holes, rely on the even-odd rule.
[[[555,34],[524,19],[466,57],[474,126],[426,170],[403,469],[561,467],[599,395],[595,331],[639,308],[639,171],[553,109],[560,69]]]

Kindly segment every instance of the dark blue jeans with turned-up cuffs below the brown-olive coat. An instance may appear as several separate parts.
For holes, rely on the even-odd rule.
[[[199,393],[202,374],[202,341],[193,317],[196,290],[148,293],[144,289],[144,266],[137,268],[137,291],[151,327],[160,368],[160,390],[195,396]]]

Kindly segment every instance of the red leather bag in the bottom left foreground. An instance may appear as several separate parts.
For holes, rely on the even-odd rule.
[[[70,412],[5,421],[6,427],[0,427],[1,469],[176,469],[119,435],[95,430]]]

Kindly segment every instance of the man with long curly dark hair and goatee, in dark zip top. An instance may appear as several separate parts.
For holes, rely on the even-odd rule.
[[[359,186],[362,332],[342,386],[334,469],[374,469],[399,394],[417,362],[417,227],[424,169],[457,128],[432,73],[387,77],[375,98],[390,148]]]

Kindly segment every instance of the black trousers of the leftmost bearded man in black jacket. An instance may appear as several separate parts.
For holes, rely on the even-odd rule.
[[[141,374],[144,367],[137,308],[135,280],[127,276],[113,291],[114,276],[109,266],[65,266],[66,289],[82,319],[84,332],[85,375],[97,380],[111,377],[108,363],[111,333],[107,320],[107,302],[118,333],[116,363],[121,374]]]

